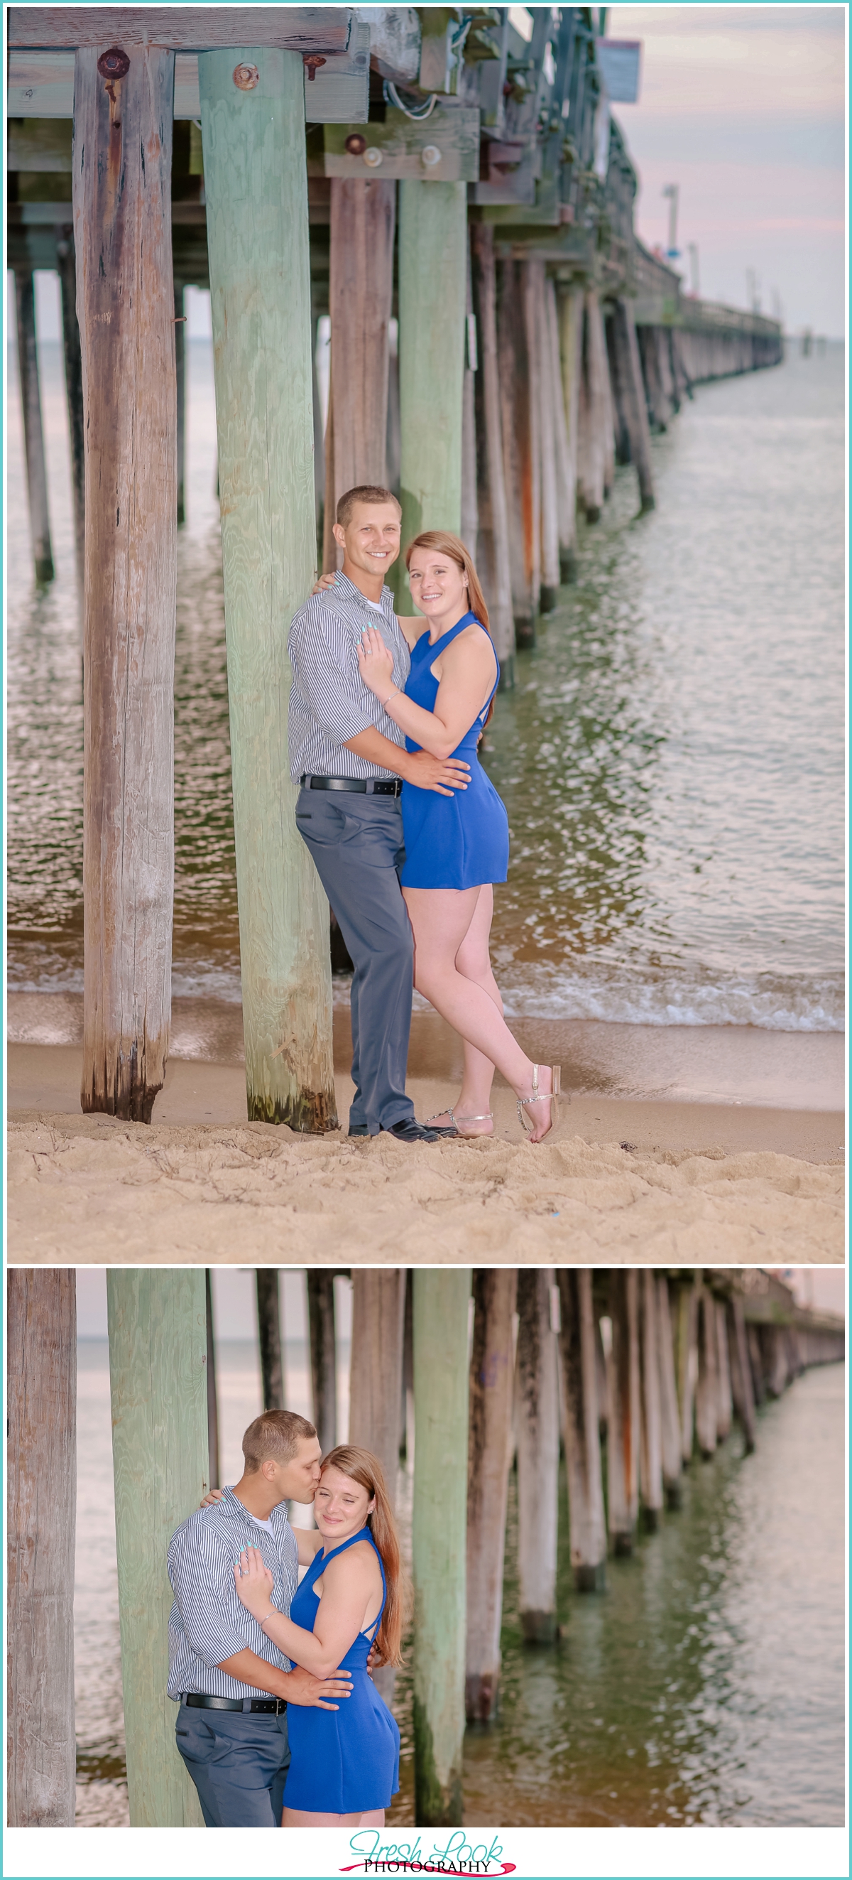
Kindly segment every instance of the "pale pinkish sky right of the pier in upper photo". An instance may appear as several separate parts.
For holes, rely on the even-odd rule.
[[[844,6],[616,6],[606,38],[640,39],[640,96],[616,105],[638,169],[636,229],[668,244],[662,188],[679,184],[676,263],[698,246],[700,293],[790,333],[844,333]]]

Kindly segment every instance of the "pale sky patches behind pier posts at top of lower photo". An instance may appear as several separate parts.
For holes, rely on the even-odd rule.
[[[843,1267],[771,1267],[786,1286],[794,1288],[801,1305],[826,1312],[844,1310]],[[253,1267],[212,1267],[216,1339],[255,1339],[255,1271]],[[285,1335],[302,1339],[304,1275],[281,1273]],[[336,1308],[347,1307],[347,1288],[338,1288]],[[107,1337],[107,1275],[103,1267],[77,1267],[77,1333],[81,1339]],[[340,1325],[342,1337],[349,1325]]]

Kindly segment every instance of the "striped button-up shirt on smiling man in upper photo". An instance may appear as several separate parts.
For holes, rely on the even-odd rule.
[[[375,726],[390,743],[405,748],[405,733],[385,716],[379,699],[358,671],[358,643],[364,626],[379,626],[394,654],[394,684],[405,684],[409,649],[396,624],[394,596],[381,590],[381,607],[364,600],[347,575],[338,573],[334,588],[312,594],[293,617],[287,650],[293,666],[289,699],[291,776],[394,776],[368,763],[355,750],[343,750],[349,737]],[[390,690],[390,686],[388,686]]]

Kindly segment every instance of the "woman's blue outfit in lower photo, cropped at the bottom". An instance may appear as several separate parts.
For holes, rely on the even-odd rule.
[[[368,1540],[375,1547],[370,1528],[360,1528],[360,1534],[351,1534],[330,1553],[319,1549],[289,1609],[295,1626],[313,1632],[319,1609],[313,1581],[328,1560],[345,1547],[355,1547],[358,1540]],[[379,1617],[366,1632],[358,1632],[340,1660],[340,1669],[353,1675],[351,1698],[342,1698],[338,1711],[287,1705],[291,1765],[283,1790],[285,1809],[302,1809],[308,1814],[366,1814],[372,1809],[388,1809],[390,1797],[400,1788],[400,1731],[366,1668],[387,1600],[385,1568],[377,1547],[375,1559],[383,1587]]]

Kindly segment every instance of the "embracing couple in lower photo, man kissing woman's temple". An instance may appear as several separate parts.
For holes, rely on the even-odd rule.
[[[321,1461],[291,1410],[255,1418],[242,1455],[169,1547],[169,1698],[205,1824],[383,1827],[400,1731],[370,1666],[400,1662],[403,1577],[381,1463],[353,1444]]]

